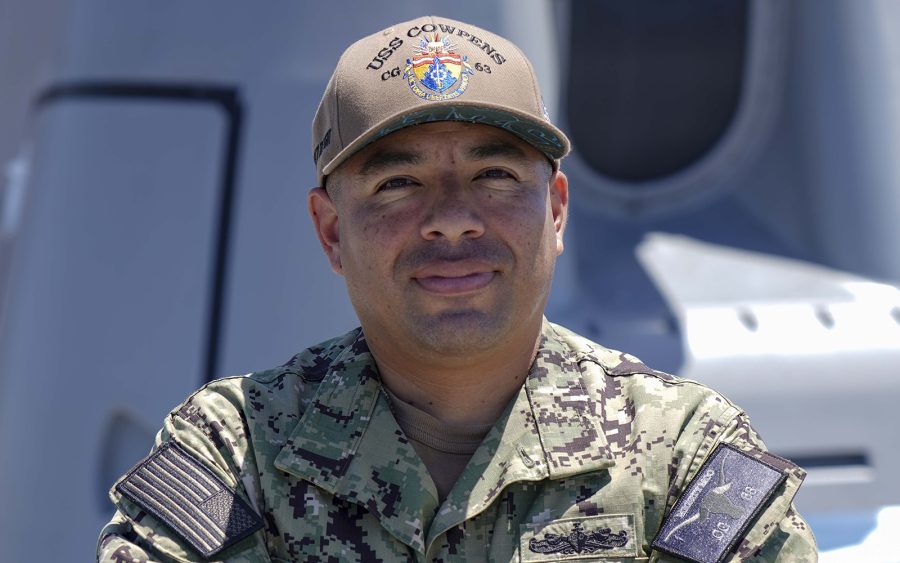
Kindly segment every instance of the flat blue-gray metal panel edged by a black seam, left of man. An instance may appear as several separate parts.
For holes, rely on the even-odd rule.
[[[144,455],[201,383],[222,121],[172,104],[42,111],[0,340],[0,498],[17,507],[0,561],[56,549],[38,535],[55,518],[55,558],[88,558],[104,460]]]

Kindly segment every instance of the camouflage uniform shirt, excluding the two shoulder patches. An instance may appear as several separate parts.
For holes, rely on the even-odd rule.
[[[360,329],[208,384],[156,447],[173,440],[262,516],[262,530],[215,556],[247,563],[680,561],[649,545],[715,446],[779,462],[727,399],[546,321],[525,385],[441,505]],[[727,560],[816,560],[791,504],[804,472],[780,463],[785,483]],[[100,561],[203,560],[110,494]]]

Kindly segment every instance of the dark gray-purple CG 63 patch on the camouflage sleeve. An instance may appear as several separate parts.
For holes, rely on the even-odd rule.
[[[719,444],[663,521],[652,547],[696,563],[720,563],[787,474]]]

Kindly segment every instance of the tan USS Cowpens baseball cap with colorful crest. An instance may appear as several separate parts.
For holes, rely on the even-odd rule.
[[[569,152],[518,47],[474,25],[426,16],[360,39],[341,55],[313,119],[319,185],[369,143],[433,121],[500,127],[554,162]]]

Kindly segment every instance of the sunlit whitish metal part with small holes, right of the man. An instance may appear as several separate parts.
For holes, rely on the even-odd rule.
[[[649,236],[639,256],[682,327],[681,374],[805,466],[802,510],[897,502],[900,289],[680,236]]]

